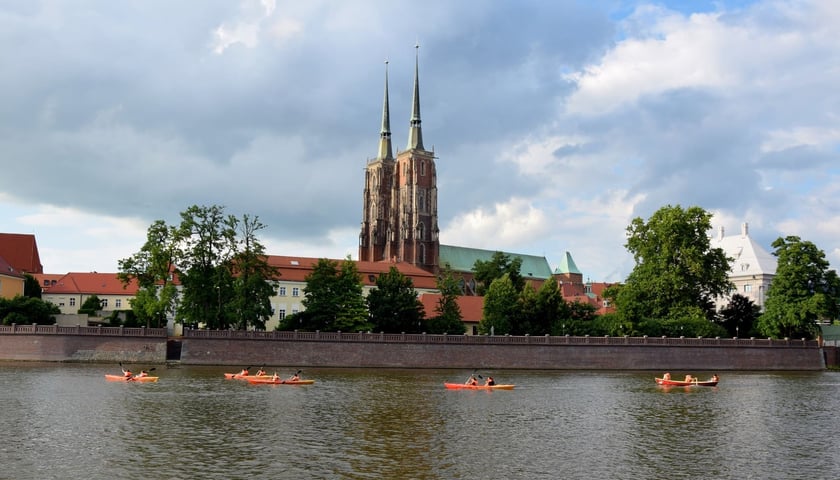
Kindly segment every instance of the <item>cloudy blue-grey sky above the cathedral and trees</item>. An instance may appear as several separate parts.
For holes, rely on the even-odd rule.
[[[417,54],[441,243],[620,282],[634,218],[699,206],[837,269],[838,31],[835,0],[0,0],[0,232],[116,272],[220,205],[357,259],[385,62],[402,150]]]

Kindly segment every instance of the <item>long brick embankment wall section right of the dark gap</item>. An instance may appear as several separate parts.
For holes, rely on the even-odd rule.
[[[825,368],[803,347],[671,345],[466,345],[188,338],[184,365],[558,370],[790,370]]]

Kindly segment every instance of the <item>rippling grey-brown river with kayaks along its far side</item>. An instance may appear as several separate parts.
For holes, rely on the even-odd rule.
[[[840,477],[840,372],[664,389],[653,372],[479,370],[516,388],[453,391],[471,372],[226,371],[160,365],[140,384],[106,382],[117,365],[0,363],[0,479]]]

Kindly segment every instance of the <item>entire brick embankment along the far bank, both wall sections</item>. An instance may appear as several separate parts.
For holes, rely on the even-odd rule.
[[[816,341],[721,338],[529,337],[13,326],[0,360],[182,365],[540,370],[818,371],[836,347]]]

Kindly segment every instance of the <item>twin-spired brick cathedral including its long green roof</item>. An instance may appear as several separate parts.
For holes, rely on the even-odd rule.
[[[477,293],[473,267],[477,261],[488,262],[494,250],[441,245],[438,227],[438,191],[435,153],[423,146],[420,122],[419,52],[415,47],[414,90],[408,144],[397,151],[391,144],[391,117],[388,106],[388,64],[385,64],[385,98],[382,102],[382,125],[379,148],[365,167],[362,194],[362,225],[359,233],[359,262],[387,262],[411,265],[437,275],[443,267],[456,273],[462,294]],[[555,277],[564,298],[588,301],[597,307],[603,285],[583,283],[571,255],[552,272],[543,256],[502,252],[521,260],[520,273],[535,288]],[[606,285],[606,284],[604,284]]]

